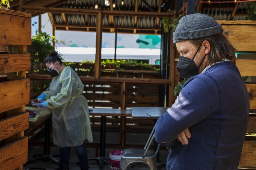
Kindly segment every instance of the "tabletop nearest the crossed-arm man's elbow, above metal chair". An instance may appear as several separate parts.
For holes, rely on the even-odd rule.
[[[133,119],[158,119],[169,107],[131,107]]]

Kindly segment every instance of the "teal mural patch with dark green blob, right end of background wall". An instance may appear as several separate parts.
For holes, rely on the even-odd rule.
[[[161,39],[158,35],[139,35],[136,42],[139,44],[139,48],[160,49]]]

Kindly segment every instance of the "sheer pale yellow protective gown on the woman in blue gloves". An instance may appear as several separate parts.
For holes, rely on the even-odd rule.
[[[52,109],[53,143],[73,147],[92,142],[91,121],[84,85],[76,72],[66,67],[52,79],[47,94],[47,106]]]

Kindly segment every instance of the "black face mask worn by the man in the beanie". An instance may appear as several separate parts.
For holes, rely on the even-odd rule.
[[[197,49],[197,52],[199,51],[201,45]],[[176,68],[177,68],[178,72],[180,73],[181,77],[183,77],[183,78],[193,77],[198,74],[198,69],[201,66],[201,64],[203,63],[206,54],[205,54],[203,60],[201,61],[200,65],[197,67],[196,63],[193,61],[195,56],[197,55],[197,52],[195,53],[192,60],[187,57],[180,56],[180,60],[178,61]]]

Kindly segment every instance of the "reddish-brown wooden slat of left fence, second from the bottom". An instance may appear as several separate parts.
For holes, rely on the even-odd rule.
[[[28,112],[17,114],[0,121],[0,140],[28,129]]]

